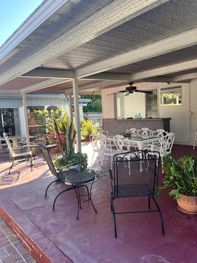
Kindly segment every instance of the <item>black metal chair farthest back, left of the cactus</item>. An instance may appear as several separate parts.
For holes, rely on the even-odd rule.
[[[40,148],[40,143],[42,142],[48,150],[56,149],[58,153],[57,144],[49,143],[49,140],[46,136],[46,131],[43,128],[37,128],[32,130],[34,136],[34,142],[37,148]]]

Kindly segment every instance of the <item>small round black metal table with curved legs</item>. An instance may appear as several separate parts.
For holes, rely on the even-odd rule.
[[[93,205],[92,199],[91,199],[91,189],[92,189],[92,185],[93,185],[94,179],[95,179],[95,175],[93,175],[91,173],[86,173],[86,172],[80,172],[80,173],[75,173],[75,174],[66,176],[66,181],[67,182],[71,183],[73,187],[74,187],[74,185],[77,186],[77,187],[74,187],[74,191],[76,192],[76,195],[77,195],[76,201],[78,202],[77,219],[78,219],[79,208],[81,209],[81,203],[87,202],[87,201],[90,200],[91,204],[92,204],[92,206],[94,208],[94,205]],[[84,183],[89,183],[89,182],[92,182],[91,183],[91,187],[90,187],[90,193],[89,193],[88,187],[84,184]],[[78,184],[82,184],[83,186],[86,187],[87,195],[80,195]],[[87,200],[83,200],[82,201],[81,200],[82,196],[86,196]],[[95,213],[97,213],[95,208],[94,208],[94,211],[95,211]]]

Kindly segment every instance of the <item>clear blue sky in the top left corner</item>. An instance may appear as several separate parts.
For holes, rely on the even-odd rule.
[[[0,46],[43,0],[0,0]]]

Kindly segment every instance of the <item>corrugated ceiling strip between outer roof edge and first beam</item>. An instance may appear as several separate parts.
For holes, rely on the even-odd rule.
[[[58,10],[56,18],[58,15],[62,15],[51,24],[51,19],[48,19],[49,21],[47,20],[45,23],[43,23],[42,31],[38,35],[34,36],[33,39],[27,41],[27,43],[22,48],[20,48],[18,52],[16,52],[8,60],[6,60],[6,62],[4,62],[3,67],[0,67],[0,74],[6,72],[10,68],[10,65],[12,67],[17,65],[22,60],[26,59],[61,35],[65,34],[70,29],[112,1],[113,0],[75,0],[71,3],[69,1],[69,3],[64,4],[60,10]],[[74,6],[72,7],[72,5]],[[34,34],[32,33],[31,35]],[[29,39],[31,38],[31,35],[28,36]]]

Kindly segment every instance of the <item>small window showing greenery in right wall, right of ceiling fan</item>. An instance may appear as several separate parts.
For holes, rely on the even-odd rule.
[[[161,88],[161,106],[182,105],[181,86]]]

